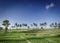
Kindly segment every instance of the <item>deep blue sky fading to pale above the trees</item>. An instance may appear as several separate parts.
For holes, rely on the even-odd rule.
[[[0,0],[0,26],[5,19],[11,25],[60,22],[60,0]]]

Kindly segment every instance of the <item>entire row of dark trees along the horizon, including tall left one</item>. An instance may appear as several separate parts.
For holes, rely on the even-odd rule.
[[[10,22],[9,22],[9,20],[3,20],[3,23],[2,23],[2,25],[3,26],[5,26],[5,32],[7,32],[7,30],[8,30],[8,27],[9,27],[9,25],[10,25]],[[39,24],[40,26],[41,26],[41,29],[44,29],[43,27],[46,27],[47,26],[47,23],[46,22],[44,22],[44,23],[40,23]],[[33,24],[31,24],[31,27],[36,27],[36,28],[38,28],[38,24],[37,23],[33,23]],[[49,25],[51,28],[60,28],[60,23],[51,23],[50,25]],[[11,27],[16,27],[16,29],[18,29],[18,27],[27,27],[28,29],[30,28],[30,26],[28,26],[27,24],[18,24],[18,23],[15,23],[14,24],[14,26],[11,26]],[[0,27],[0,30],[2,29],[2,27]]]

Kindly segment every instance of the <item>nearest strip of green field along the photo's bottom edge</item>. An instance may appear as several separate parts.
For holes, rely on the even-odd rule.
[[[60,38],[28,39],[28,40],[2,40],[0,43],[60,43]]]

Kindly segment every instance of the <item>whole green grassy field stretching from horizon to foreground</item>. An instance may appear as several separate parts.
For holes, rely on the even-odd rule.
[[[0,43],[60,43],[60,29],[0,30]]]

